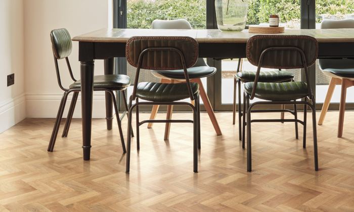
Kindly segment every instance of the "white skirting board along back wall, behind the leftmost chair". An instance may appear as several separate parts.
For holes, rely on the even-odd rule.
[[[26,112],[28,118],[56,118],[63,93],[26,93]],[[65,104],[63,118],[66,118],[72,99],[69,94]],[[114,108],[113,108],[113,114]],[[106,117],[104,91],[95,91],[93,97],[92,118]],[[81,118],[81,93],[79,93],[73,118]]]

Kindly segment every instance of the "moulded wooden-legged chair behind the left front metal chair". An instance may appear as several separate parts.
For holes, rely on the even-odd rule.
[[[192,29],[190,23],[184,19],[179,19],[179,20],[172,20],[172,21],[165,21],[165,20],[154,20],[151,24],[152,29]],[[209,115],[210,121],[216,131],[217,135],[222,135],[222,131],[220,130],[220,127],[217,123],[214,111],[211,107],[209,98],[206,94],[206,91],[204,89],[203,83],[201,81],[201,78],[204,77],[209,77],[212,76],[216,73],[216,68],[214,67],[209,67],[204,59],[199,58],[195,65],[188,70],[189,74],[189,79],[191,82],[196,82],[199,84],[199,91],[200,91],[200,97],[203,100],[204,107]],[[185,75],[183,70],[176,70],[176,71],[171,71],[171,70],[151,70],[151,73],[161,79],[161,83],[185,83]],[[192,102],[193,104],[193,102]],[[157,111],[159,109],[159,105],[154,105],[150,119],[153,120],[156,118]],[[166,119],[169,120],[172,118],[172,110],[173,110],[173,105],[168,105],[167,106],[167,117]],[[148,124],[148,128],[152,128],[153,123]],[[168,140],[169,137],[169,131],[170,131],[170,126],[171,123],[166,123],[165,126],[165,135],[164,135],[164,140]]]

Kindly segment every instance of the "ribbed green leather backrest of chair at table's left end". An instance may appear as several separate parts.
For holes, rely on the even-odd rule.
[[[60,60],[71,54],[71,37],[66,29],[55,29],[51,31],[51,41],[55,57]]]

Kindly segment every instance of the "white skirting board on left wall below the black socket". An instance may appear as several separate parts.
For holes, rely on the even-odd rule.
[[[0,103],[0,133],[26,118],[26,98],[22,93]]]

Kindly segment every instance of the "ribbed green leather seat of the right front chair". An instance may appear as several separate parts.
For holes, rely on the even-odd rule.
[[[245,91],[252,93],[254,82],[245,83]],[[271,101],[289,101],[308,95],[305,82],[258,82],[255,97]]]

